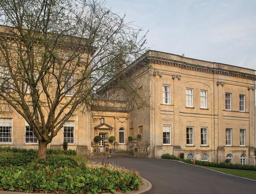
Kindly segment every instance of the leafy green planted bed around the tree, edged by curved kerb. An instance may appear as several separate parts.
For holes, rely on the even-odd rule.
[[[30,157],[29,157],[30,156]],[[9,162],[8,162],[9,161]],[[104,193],[137,190],[136,171],[112,164],[87,161],[72,155],[1,152],[0,189],[29,193]]]

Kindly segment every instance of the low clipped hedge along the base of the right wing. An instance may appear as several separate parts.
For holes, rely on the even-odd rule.
[[[191,160],[180,159],[180,158],[176,157],[175,155],[171,155],[171,154],[163,154],[162,158],[163,159],[168,159],[168,160],[179,160],[179,161],[182,161],[182,162],[192,164]],[[216,167],[216,168],[227,168],[227,169],[256,171],[256,166],[253,166],[253,165],[241,165],[241,164],[224,163],[224,162],[218,163],[218,162],[209,162],[209,161],[200,161],[200,160],[195,160],[195,164],[200,165],[200,166],[210,166],[210,167]]]

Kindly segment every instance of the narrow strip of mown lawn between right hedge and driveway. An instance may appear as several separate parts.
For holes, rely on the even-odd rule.
[[[196,165],[199,166],[199,165]],[[256,171],[250,171],[250,170],[236,170],[236,169],[222,169],[222,168],[216,168],[216,167],[209,167],[209,166],[202,166],[208,169],[213,169],[219,172],[224,172],[230,175],[236,175],[244,178],[250,178],[256,180]]]

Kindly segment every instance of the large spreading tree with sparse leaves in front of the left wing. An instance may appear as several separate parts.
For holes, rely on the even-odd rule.
[[[140,28],[104,2],[0,0],[0,100],[28,122],[38,157],[77,111],[90,111],[95,91],[118,80],[127,98],[145,104],[129,66],[145,47]],[[120,84],[121,83],[121,84]],[[133,84],[131,84],[133,83]],[[131,97],[129,96],[132,93]]]

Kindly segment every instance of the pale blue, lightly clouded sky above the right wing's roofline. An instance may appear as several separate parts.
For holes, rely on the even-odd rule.
[[[106,0],[151,50],[256,69],[255,0]]]

